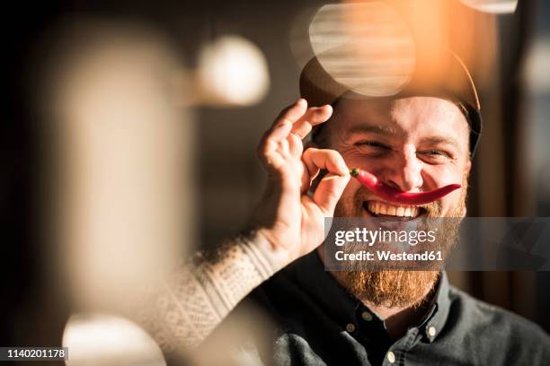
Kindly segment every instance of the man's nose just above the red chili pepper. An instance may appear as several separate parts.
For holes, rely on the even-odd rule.
[[[385,183],[405,192],[418,190],[423,184],[422,164],[414,149],[405,149],[404,153],[397,155],[392,167],[383,175]]]

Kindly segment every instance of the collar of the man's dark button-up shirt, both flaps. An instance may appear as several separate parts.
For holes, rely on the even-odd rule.
[[[324,270],[324,264],[316,250],[299,259],[296,266],[293,267],[300,288],[307,292],[319,306],[324,308],[342,328],[356,322],[358,309],[365,308],[363,303],[350,295],[330,273]],[[444,271],[439,276],[436,286],[432,306],[424,318],[413,326],[419,328],[421,334],[430,343],[438,337],[448,318],[450,307],[449,284],[447,274]],[[383,323],[382,320],[374,312],[370,311],[370,314],[374,318],[371,324],[380,327]]]

